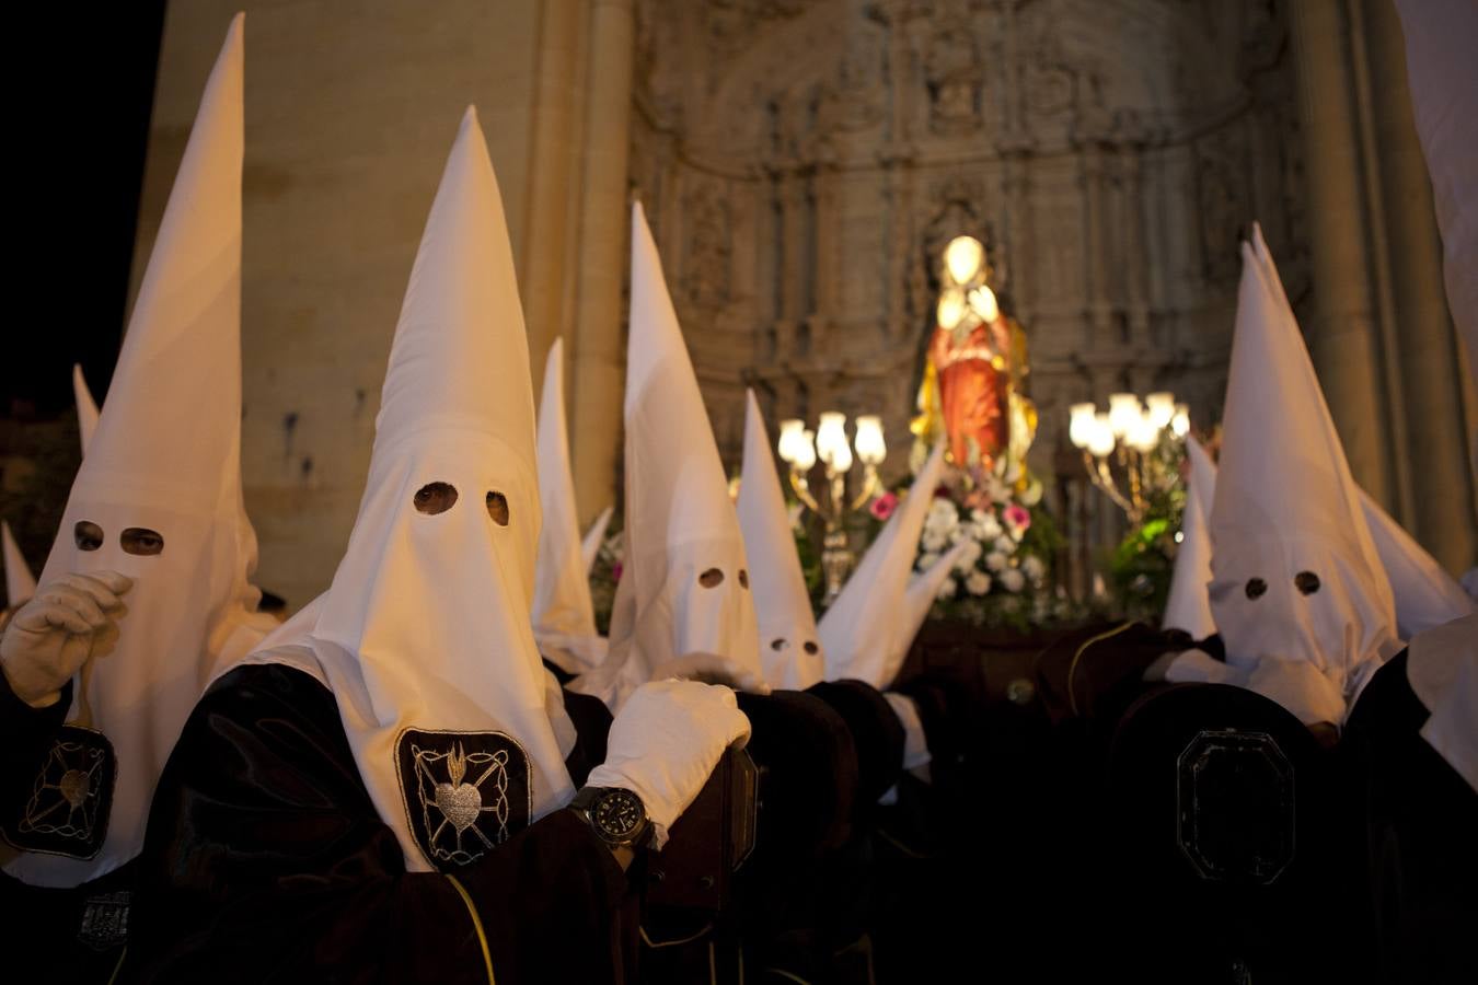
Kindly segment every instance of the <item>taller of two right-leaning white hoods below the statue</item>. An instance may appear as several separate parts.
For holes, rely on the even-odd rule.
[[[878,538],[868,548],[857,570],[847,579],[841,595],[822,614],[822,648],[826,653],[826,679],[856,678],[885,688],[897,672],[899,638],[905,635],[899,600],[909,588],[919,533],[928,515],[934,490],[944,467],[944,449],[936,447],[913,480],[909,495],[893,511]],[[946,573],[949,569],[944,569]],[[941,579],[943,580],[943,576]],[[933,601],[933,597],[930,597]],[[925,605],[924,611],[928,611]],[[913,626],[918,632],[918,626]],[[912,642],[912,634],[903,650]]]

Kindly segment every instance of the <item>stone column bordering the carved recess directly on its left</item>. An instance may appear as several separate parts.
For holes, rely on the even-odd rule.
[[[633,0],[593,0],[590,10],[571,387],[575,421],[571,456],[582,523],[613,502],[622,443],[625,351],[621,328],[630,254],[627,162],[636,49]]]

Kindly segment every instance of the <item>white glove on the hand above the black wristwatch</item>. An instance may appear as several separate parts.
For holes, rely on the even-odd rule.
[[[735,693],[698,681],[643,684],[610,724],[606,762],[590,771],[591,787],[622,787],[646,805],[652,848],[698,797],[724,750],[749,741],[749,719]]]

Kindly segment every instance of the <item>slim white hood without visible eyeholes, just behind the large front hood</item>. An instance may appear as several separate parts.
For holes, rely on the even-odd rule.
[[[563,670],[584,673],[606,659],[606,641],[596,631],[596,607],[581,552],[565,427],[565,343],[559,338],[544,368],[538,459],[544,527],[534,566],[534,638],[539,653]]]

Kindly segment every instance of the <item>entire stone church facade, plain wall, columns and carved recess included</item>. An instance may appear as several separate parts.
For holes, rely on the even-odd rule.
[[[899,477],[936,257],[986,242],[1032,344],[1033,464],[1082,558],[1117,518],[1070,481],[1067,405],[1171,388],[1209,422],[1237,229],[1259,219],[1355,476],[1450,570],[1474,561],[1478,396],[1454,369],[1389,0],[171,3],[134,279],[242,6],[242,468],[260,580],[294,605],[353,524],[469,102],[535,380],[565,340],[587,523],[619,487],[631,185],[730,465],[754,385],[770,421],[882,413]]]

